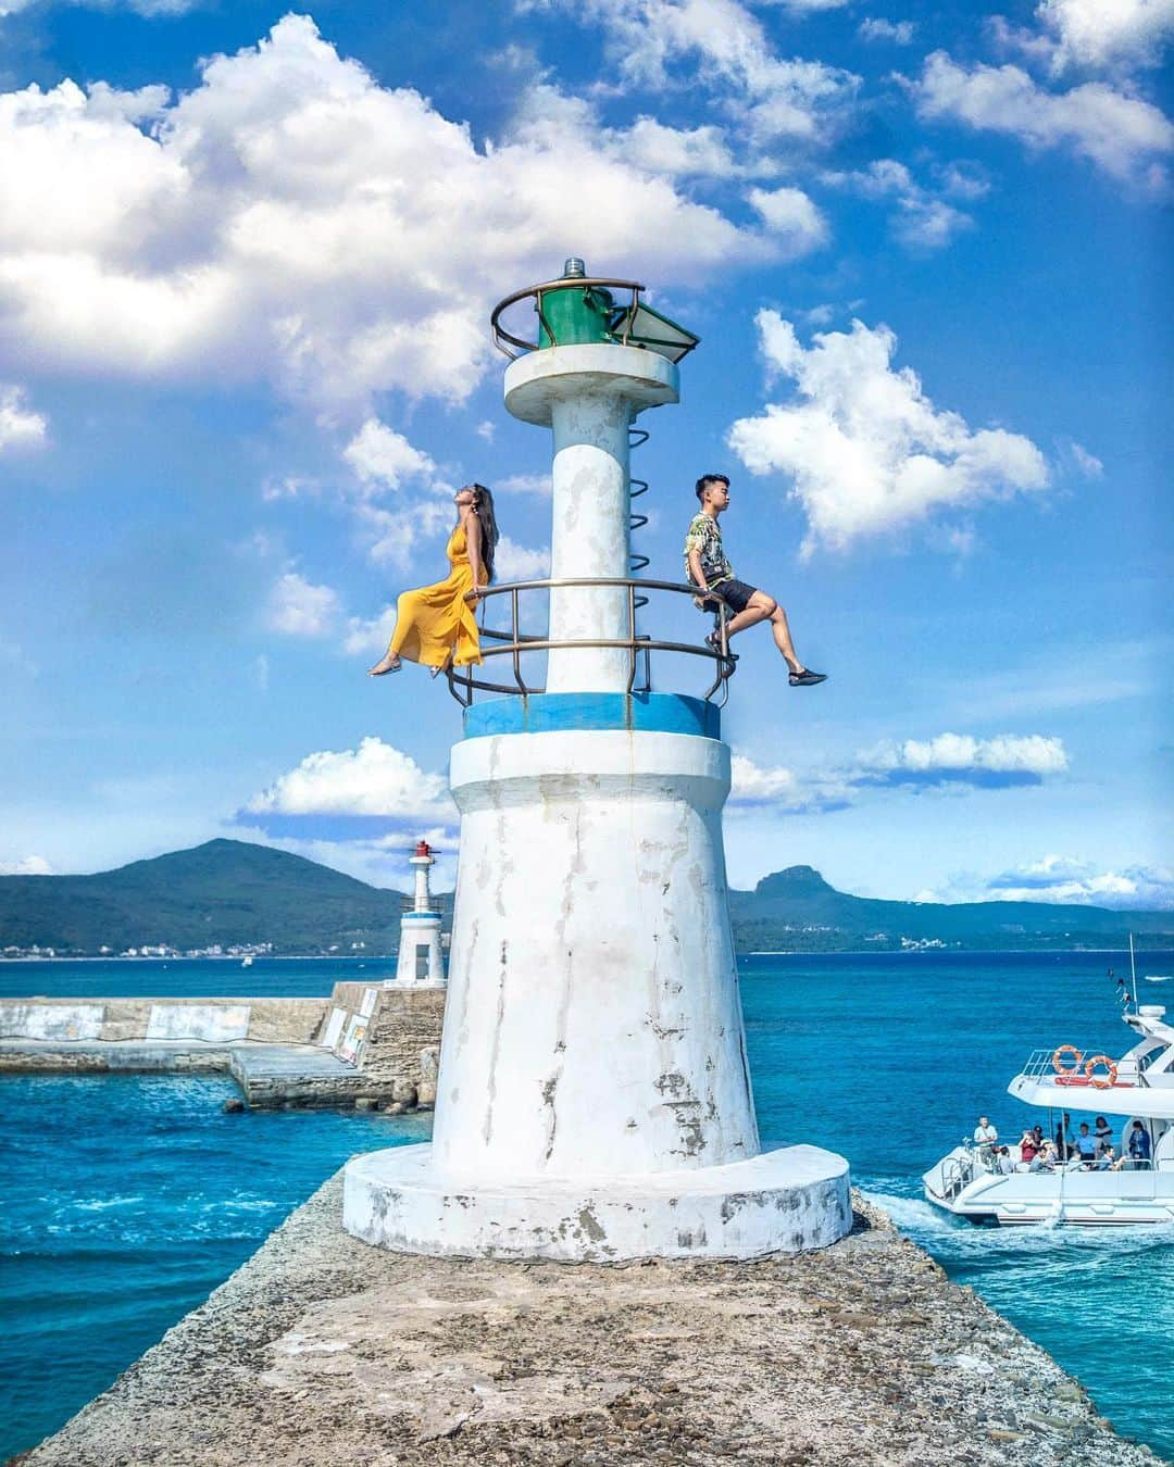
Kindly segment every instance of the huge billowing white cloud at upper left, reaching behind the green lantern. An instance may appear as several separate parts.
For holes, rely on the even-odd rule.
[[[0,351],[40,371],[264,378],[348,415],[384,389],[462,400],[489,305],[583,238],[665,283],[763,254],[590,129],[478,147],[307,16],[178,98],[0,95]]]

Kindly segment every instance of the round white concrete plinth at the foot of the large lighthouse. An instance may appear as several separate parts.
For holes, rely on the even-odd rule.
[[[647,1177],[462,1181],[434,1171],[431,1146],[399,1146],[346,1166],[343,1226],[377,1247],[437,1257],[754,1259],[848,1232],[848,1163],[788,1146]]]

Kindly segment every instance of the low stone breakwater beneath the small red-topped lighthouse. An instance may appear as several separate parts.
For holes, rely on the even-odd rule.
[[[430,1108],[445,992],[0,1000],[0,1071],[227,1072],[260,1109]]]

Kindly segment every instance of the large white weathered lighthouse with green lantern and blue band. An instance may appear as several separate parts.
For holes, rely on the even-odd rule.
[[[819,1247],[850,1226],[848,1168],[759,1146],[719,711],[631,691],[637,654],[660,644],[634,626],[630,427],[678,400],[665,337],[694,339],[635,288],[625,312],[615,282],[568,270],[534,288],[542,332],[505,377],[508,411],[553,433],[546,688],[465,711],[433,1141],[355,1157],[345,1226],[495,1257]],[[502,650],[517,669],[517,628]]]

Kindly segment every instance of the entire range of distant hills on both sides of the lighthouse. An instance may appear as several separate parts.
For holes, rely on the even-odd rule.
[[[810,866],[775,871],[729,898],[741,952],[1102,948],[1120,946],[1129,930],[1174,946],[1174,912],[873,901],[835,890]],[[448,917],[452,896],[439,899]],[[95,955],[161,943],[179,952],[271,943],[274,954],[383,954],[399,942],[399,892],[270,846],[208,841],[97,876],[0,877],[0,949]]]

